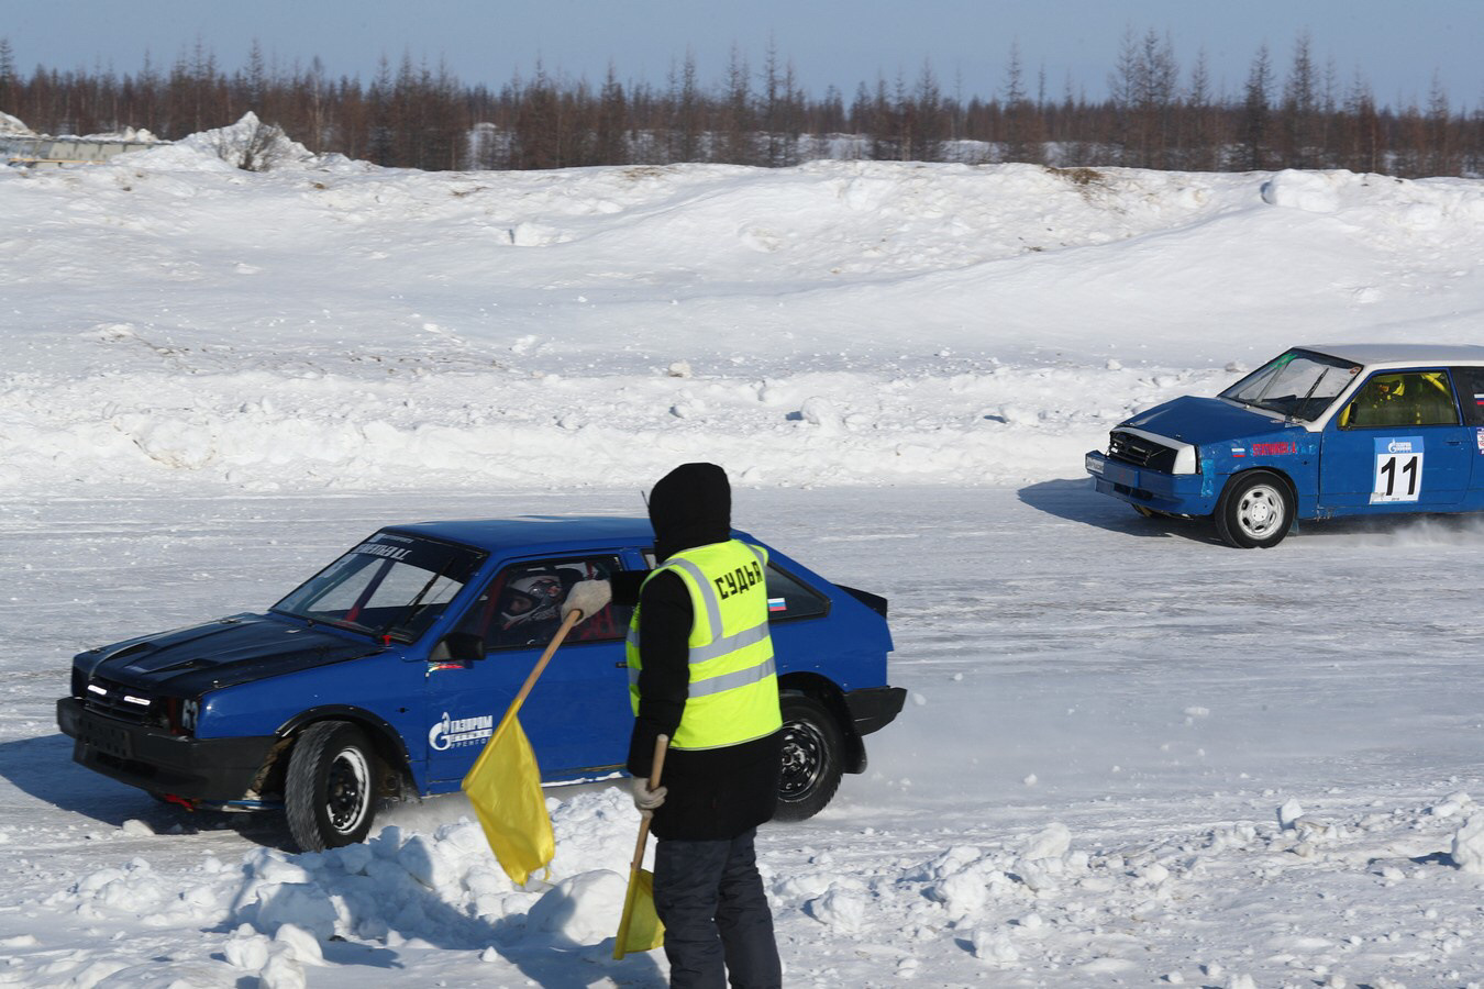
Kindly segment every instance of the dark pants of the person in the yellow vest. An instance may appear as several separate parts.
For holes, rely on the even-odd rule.
[[[654,847],[654,910],[672,989],[724,989],[729,976],[733,989],[784,985],[754,835]]]

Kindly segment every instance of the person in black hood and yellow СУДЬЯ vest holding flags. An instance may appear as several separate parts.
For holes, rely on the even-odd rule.
[[[782,761],[767,632],[766,552],[732,538],[732,488],[683,464],[649,498],[656,569],[629,626],[634,802],[651,810],[654,909],[669,985],[782,985],[752,839],[772,820]],[[669,735],[649,789],[657,735]]]

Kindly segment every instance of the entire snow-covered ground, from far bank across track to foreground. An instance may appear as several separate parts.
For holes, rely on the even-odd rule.
[[[663,985],[608,959],[617,787],[549,790],[519,891],[462,798],[286,854],[74,767],[52,704],[383,522],[638,513],[693,458],[890,598],[911,691],[763,830],[788,985],[1484,985],[1484,523],[1236,552],[1082,476],[1291,343],[1480,343],[1484,182],[212,147],[0,172],[0,985]]]

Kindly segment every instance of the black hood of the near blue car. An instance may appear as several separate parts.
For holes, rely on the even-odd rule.
[[[383,649],[273,615],[242,614],[82,652],[77,663],[85,670],[91,663],[93,676],[194,695]]]

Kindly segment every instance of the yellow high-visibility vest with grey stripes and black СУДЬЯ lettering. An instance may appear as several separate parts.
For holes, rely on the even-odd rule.
[[[767,633],[767,550],[739,540],[675,553],[654,568],[690,592],[690,695],[674,749],[720,749],[784,725],[773,641]],[[628,638],[629,701],[640,710],[640,609]]]

